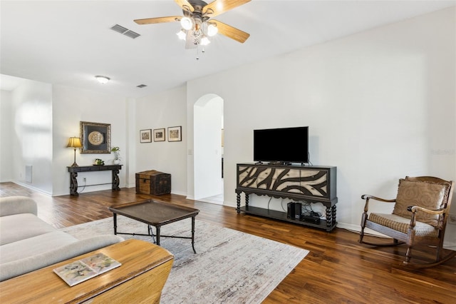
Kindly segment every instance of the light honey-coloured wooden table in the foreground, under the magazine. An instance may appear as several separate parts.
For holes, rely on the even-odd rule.
[[[53,269],[94,253],[122,265],[68,286]],[[160,303],[174,257],[143,240],[125,240],[0,283],[0,303]]]

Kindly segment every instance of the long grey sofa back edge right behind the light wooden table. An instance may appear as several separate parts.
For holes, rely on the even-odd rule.
[[[118,235],[97,235],[92,238],[78,240],[75,243],[49,250],[46,253],[21,258],[0,265],[0,281],[8,280],[25,273],[30,273],[48,265],[52,265],[78,255],[97,250],[108,245],[123,241]]]

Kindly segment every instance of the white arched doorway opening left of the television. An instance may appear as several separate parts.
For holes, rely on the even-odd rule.
[[[193,106],[195,200],[223,204],[223,99],[207,94]]]

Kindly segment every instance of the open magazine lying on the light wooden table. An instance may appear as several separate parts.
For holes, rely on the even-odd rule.
[[[122,264],[117,260],[109,258],[103,253],[97,253],[90,255],[88,258],[76,260],[73,263],[55,268],[53,272],[61,277],[68,285],[73,286],[120,265]]]

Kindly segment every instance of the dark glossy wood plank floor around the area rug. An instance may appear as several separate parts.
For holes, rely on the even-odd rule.
[[[191,201],[183,196],[138,195],[135,188],[51,198],[14,183],[0,183],[0,197],[4,196],[34,198],[38,202],[38,216],[56,228],[110,217],[112,213],[107,207],[111,205],[155,198],[198,208],[198,220],[309,250],[309,255],[264,303],[456,303],[456,258],[435,268],[409,270],[401,265],[405,247],[360,245],[357,233],[339,228],[326,233],[238,215],[234,208]],[[420,248],[414,253],[416,258],[424,260],[430,258],[431,252]]]

